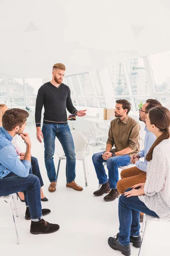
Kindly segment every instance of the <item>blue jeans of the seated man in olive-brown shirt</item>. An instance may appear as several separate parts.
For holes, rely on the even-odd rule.
[[[116,189],[116,184],[119,180],[118,167],[127,166],[128,164],[130,164],[130,156],[116,156],[110,157],[108,160],[104,160],[102,158],[102,153],[104,152],[96,153],[92,157],[94,168],[96,170],[96,175],[99,180],[99,184],[103,185],[106,182],[108,182],[109,176],[110,188]],[[108,176],[106,175],[105,168],[103,166],[104,162],[107,163]]]

